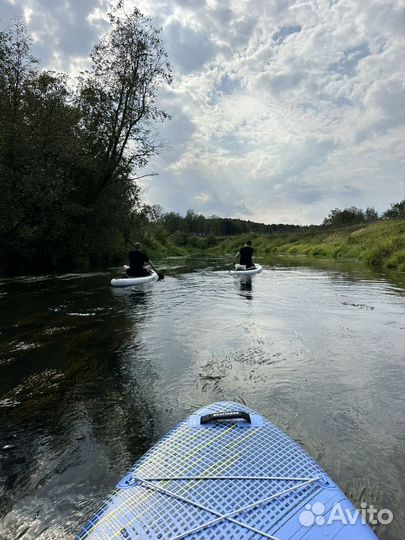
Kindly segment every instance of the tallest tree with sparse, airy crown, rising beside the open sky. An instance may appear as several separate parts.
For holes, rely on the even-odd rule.
[[[160,31],[136,8],[108,14],[110,30],[93,48],[91,68],[79,82],[79,105],[88,146],[100,158],[94,197],[117,179],[144,166],[160,143],[152,125],[168,115],[156,103],[158,90],[171,83],[171,68]]]

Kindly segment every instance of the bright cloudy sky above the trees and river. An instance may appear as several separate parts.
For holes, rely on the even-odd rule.
[[[162,28],[174,82],[165,149],[139,174],[166,211],[320,223],[404,198],[402,0],[125,0]],[[104,0],[0,0],[43,68],[72,76],[105,32]]]

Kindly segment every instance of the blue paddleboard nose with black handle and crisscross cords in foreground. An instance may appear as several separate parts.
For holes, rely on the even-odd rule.
[[[376,540],[360,518],[329,523],[335,505],[355,512],[283,431],[221,402],[137,461],[77,540]]]

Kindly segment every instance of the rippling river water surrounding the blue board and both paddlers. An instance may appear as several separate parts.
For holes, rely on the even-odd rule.
[[[0,538],[72,540],[138,456],[197,407],[241,401],[405,538],[403,276],[225,259],[0,281]]]

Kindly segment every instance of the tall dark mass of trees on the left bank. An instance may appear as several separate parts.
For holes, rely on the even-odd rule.
[[[108,264],[142,214],[136,171],[160,149],[171,82],[160,32],[137,9],[78,80],[41,70],[22,20],[0,31],[0,273]]]

